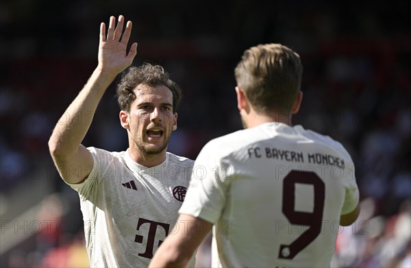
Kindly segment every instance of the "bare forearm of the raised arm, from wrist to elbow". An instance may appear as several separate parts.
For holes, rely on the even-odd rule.
[[[56,124],[49,139],[51,155],[75,155],[90,127],[97,105],[114,77],[99,68],[92,73],[82,91]]]

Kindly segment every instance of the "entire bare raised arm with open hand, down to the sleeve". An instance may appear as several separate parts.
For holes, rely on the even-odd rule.
[[[81,183],[90,174],[93,158],[81,142],[105,90],[116,75],[132,64],[136,56],[137,43],[132,44],[127,55],[132,23],[127,22],[124,33],[123,25],[123,16],[119,16],[117,26],[116,18],[111,16],[106,36],[105,23],[101,23],[99,64],[82,91],[64,112],[49,139],[51,157],[67,183]]]

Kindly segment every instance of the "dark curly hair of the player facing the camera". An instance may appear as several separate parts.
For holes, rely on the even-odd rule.
[[[170,79],[167,72],[160,65],[149,63],[142,64],[140,67],[130,67],[124,72],[119,84],[117,85],[117,94],[119,98],[120,109],[130,111],[133,101],[136,99],[134,90],[137,85],[145,84],[151,87],[165,85],[173,93],[173,113],[177,110],[180,100],[182,99],[182,90],[177,83]]]

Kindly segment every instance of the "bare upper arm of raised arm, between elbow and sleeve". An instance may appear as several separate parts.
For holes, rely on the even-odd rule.
[[[51,153],[55,167],[66,183],[82,183],[90,174],[94,159],[91,152],[82,144],[74,155]]]

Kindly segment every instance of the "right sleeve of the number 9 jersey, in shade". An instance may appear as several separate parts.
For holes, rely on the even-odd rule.
[[[358,202],[360,202],[360,191],[356,183],[355,167],[351,158],[348,161],[345,172],[347,174],[345,176],[345,200],[341,209],[341,215],[352,212],[356,209]]]

